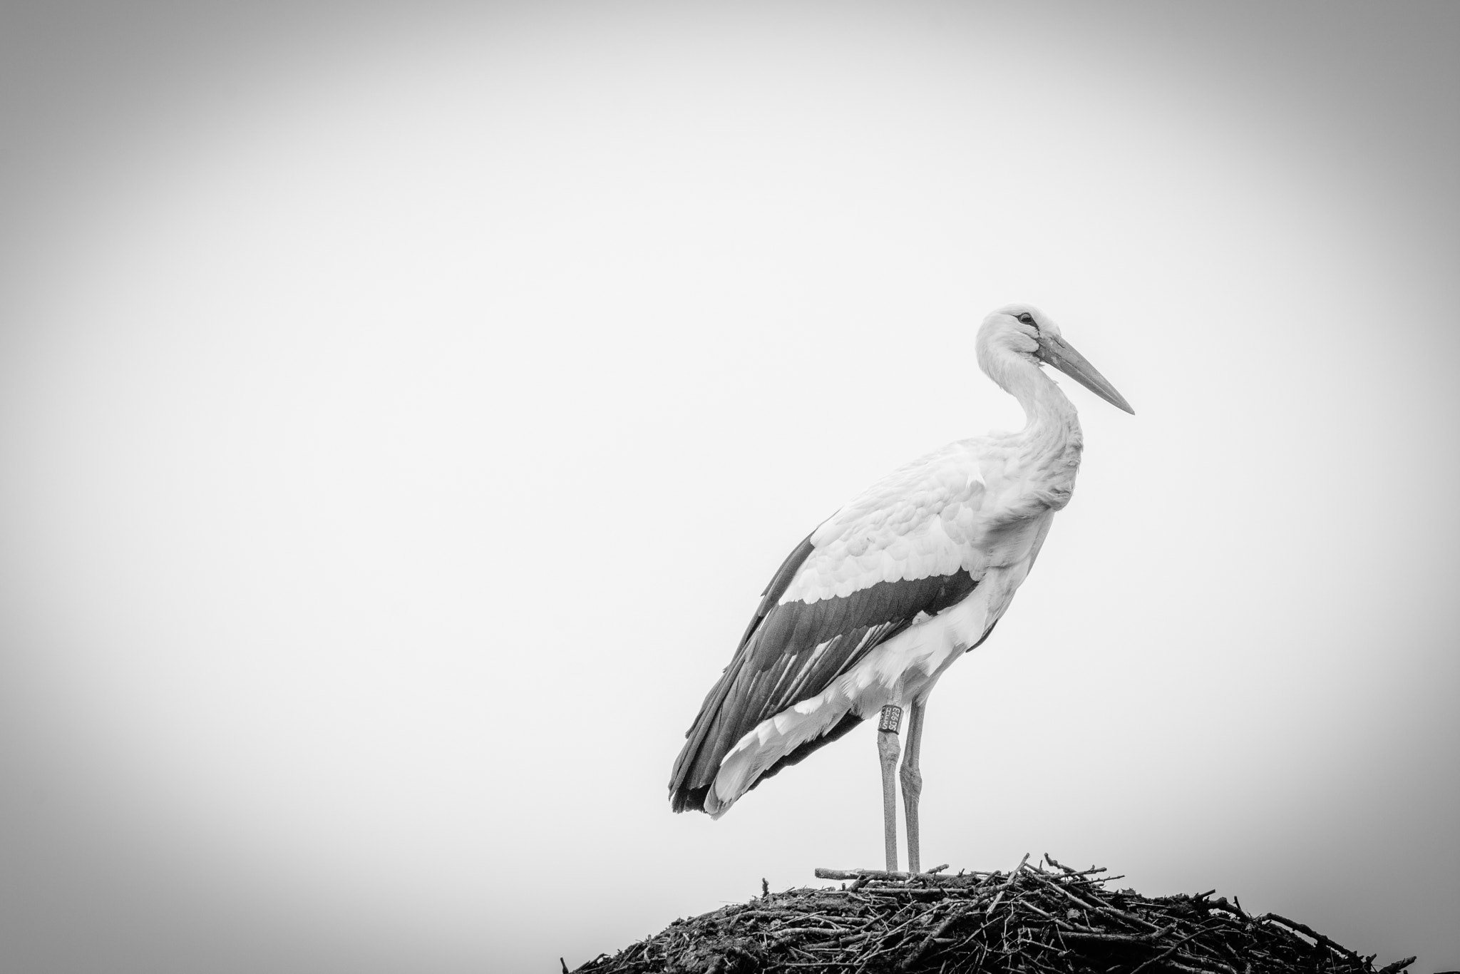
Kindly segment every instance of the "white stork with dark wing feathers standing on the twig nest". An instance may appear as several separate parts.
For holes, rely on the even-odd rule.
[[[894,470],[812,532],[762,593],[734,659],[705,697],[675,761],[676,812],[720,818],[781,768],[877,714],[888,872],[896,872],[896,768],[908,869],[918,872],[918,748],[937,678],[981,644],[1070,502],[1083,437],[1053,365],[1134,413],[1038,308],[984,318],[978,367],[1019,400],[1019,432],[959,440]]]

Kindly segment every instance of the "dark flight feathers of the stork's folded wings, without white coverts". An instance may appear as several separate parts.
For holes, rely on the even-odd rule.
[[[734,659],[685,735],[688,740],[669,783],[676,812],[704,809],[705,791],[720,762],[756,724],[821,694],[876,645],[912,625],[920,613],[936,615],[978,584],[959,570],[914,581],[879,581],[848,596],[777,605],[813,549],[807,537],[775,572]],[[857,723],[848,717],[850,723],[842,718],[768,774],[847,733]]]

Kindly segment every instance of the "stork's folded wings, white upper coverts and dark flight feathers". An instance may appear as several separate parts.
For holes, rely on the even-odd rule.
[[[983,480],[956,447],[873,485],[781,564],[686,733],[669,786],[676,812],[707,809],[721,761],[762,721],[821,695],[876,645],[974,590],[984,571],[971,543]],[[845,704],[822,714],[815,737],[769,755],[746,789],[861,717]]]

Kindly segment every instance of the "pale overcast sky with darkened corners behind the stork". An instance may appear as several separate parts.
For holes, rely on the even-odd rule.
[[[670,765],[1029,301],[1075,499],[926,863],[1460,967],[1460,6],[6,3],[0,959],[529,971],[880,862]]]

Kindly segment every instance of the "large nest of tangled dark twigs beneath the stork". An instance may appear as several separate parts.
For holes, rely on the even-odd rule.
[[[885,974],[1021,971],[1026,974],[1397,974],[1415,958],[1375,971],[1310,927],[1272,913],[1247,914],[1212,892],[1148,898],[1111,891],[1104,869],[1069,869],[1025,856],[1009,873],[818,869],[840,889],[788,889],[688,920],[583,974]],[[564,965],[564,974],[568,968]]]

